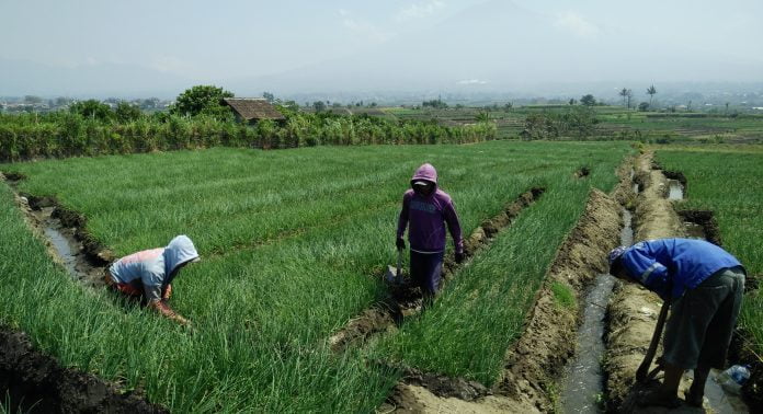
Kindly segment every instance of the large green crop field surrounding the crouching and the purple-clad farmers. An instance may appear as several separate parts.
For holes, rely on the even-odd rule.
[[[26,176],[19,191],[82,212],[117,255],[185,233],[203,261],[174,283],[172,303],[193,321],[191,333],[53,265],[3,184],[0,322],[64,365],[144,388],[173,412],[369,412],[399,375],[367,363],[377,356],[490,383],[589,189],[611,189],[629,151],[494,141],[3,164]],[[423,162],[439,169],[467,235],[531,187],[546,193],[431,309],[397,334],[334,355],[328,337],[386,295],[371,275],[394,261],[401,195]],[[591,175],[574,177],[581,166]]]

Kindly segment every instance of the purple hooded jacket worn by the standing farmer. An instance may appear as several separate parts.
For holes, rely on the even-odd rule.
[[[423,164],[413,174],[411,186],[415,181],[429,181],[434,183],[435,192],[429,196],[422,196],[409,189],[402,196],[402,210],[398,219],[398,239],[406,233],[406,227],[410,221],[408,241],[411,250],[422,253],[436,253],[445,250],[445,223],[451,231],[456,252],[464,252],[458,215],[453,207],[453,200],[447,193],[437,188],[437,171],[431,164]]]

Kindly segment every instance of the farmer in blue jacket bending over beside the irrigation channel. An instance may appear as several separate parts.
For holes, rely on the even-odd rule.
[[[741,263],[713,243],[661,239],[610,252],[610,273],[637,281],[671,301],[663,337],[662,386],[641,396],[640,405],[677,407],[679,382],[694,370],[686,402],[702,406],[710,368],[722,368],[744,292]]]

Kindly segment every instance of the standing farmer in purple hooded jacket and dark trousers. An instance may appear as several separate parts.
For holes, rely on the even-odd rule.
[[[464,260],[458,215],[453,200],[437,188],[437,172],[431,164],[423,164],[413,174],[411,189],[402,196],[402,210],[398,219],[396,246],[406,249],[402,237],[408,231],[411,243],[411,277],[430,301],[440,288],[440,275],[445,253],[445,223],[456,248],[456,263]]]

